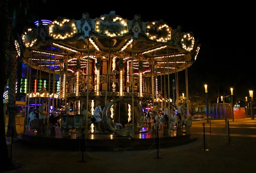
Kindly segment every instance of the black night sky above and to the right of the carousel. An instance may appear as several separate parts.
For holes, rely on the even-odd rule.
[[[255,54],[250,46],[250,37],[254,37],[250,23],[253,13],[248,9],[250,4],[207,1],[188,5],[161,1],[160,5],[143,5],[138,1],[124,1],[117,3],[120,5],[107,7],[106,4],[115,3],[67,2],[69,3],[47,0],[47,4],[41,5],[40,10],[35,10],[35,13],[41,19],[54,20],[61,16],[80,20],[83,12],[88,12],[90,18],[94,19],[115,11],[117,15],[128,20],[132,20],[135,14],[140,14],[144,22],[162,19],[173,29],[181,25],[183,32],[193,32],[195,39],[199,38],[201,43],[198,58],[188,70],[190,94],[204,96],[204,84],[208,84],[209,97],[212,95],[217,100],[218,93],[230,95],[230,87],[233,87],[234,95],[239,100],[249,96],[249,89],[256,89],[253,72]],[[185,73],[179,72],[179,76],[179,82],[184,83]],[[171,75],[170,78],[174,77]]]

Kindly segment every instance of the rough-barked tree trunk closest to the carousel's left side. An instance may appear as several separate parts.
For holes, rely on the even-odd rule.
[[[9,35],[8,47],[6,49],[7,54],[7,76],[9,80],[9,88],[8,88],[8,112],[9,112],[9,121],[8,121],[8,129],[6,136],[17,136],[16,125],[15,125],[15,115],[16,115],[16,81],[17,76],[19,80],[17,81],[18,86],[20,86],[21,74],[20,68],[18,68],[17,72],[17,64],[18,67],[22,68],[22,63],[20,63],[23,56],[23,44],[20,35],[23,33],[24,28],[27,26],[33,26],[33,22],[35,21],[34,15],[30,14],[28,9],[29,3],[32,0],[19,0],[19,2],[15,0],[7,0],[8,10],[10,14],[8,14],[7,20],[9,21],[7,35]],[[31,3],[32,4],[32,3]],[[11,13],[12,12],[12,13]],[[29,14],[29,15],[28,15]],[[31,20],[32,19],[32,20]],[[31,25],[32,24],[32,25]],[[17,52],[15,47],[15,40],[20,45],[20,54]],[[17,75],[18,74],[18,75]],[[18,94],[20,94],[18,92]],[[20,95],[19,95],[20,96]]]

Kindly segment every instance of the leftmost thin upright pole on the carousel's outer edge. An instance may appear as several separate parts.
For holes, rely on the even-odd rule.
[[[26,98],[29,97],[29,94],[30,94],[30,81],[31,81],[31,58],[32,58],[32,51],[31,51],[31,54],[30,54],[30,63],[29,63],[29,60],[28,60],[28,67],[27,67],[27,80],[26,80]],[[30,64],[30,65],[29,65]],[[29,73],[29,70],[30,70],[30,73]],[[29,76],[29,93],[27,93],[27,87],[28,87],[28,76]],[[29,133],[29,98],[28,98],[28,106],[27,106],[27,115],[26,115],[26,112],[25,112],[25,119],[26,119],[26,134]],[[25,126],[25,125],[24,125]]]

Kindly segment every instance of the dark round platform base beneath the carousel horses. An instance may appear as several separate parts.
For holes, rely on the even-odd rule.
[[[28,134],[22,133],[19,137],[26,142],[26,145],[31,144],[37,147],[46,147],[60,150],[87,150],[87,151],[113,151],[113,150],[146,150],[154,149],[157,144],[160,148],[174,147],[177,145],[187,144],[195,141],[197,136],[192,134],[183,134],[176,136],[176,131],[171,133],[171,136],[163,134],[159,131],[159,141],[157,142],[156,130],[138,133],[131,138],[131,136],[120,137],[114,134],[99,134],[90,133],[87,139],[82,140],[78,137],[78,133],[73,131],[69,136],[63,137],[61,130],[56,130],[55,135],[47,133],[30,132]]]

